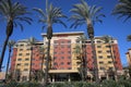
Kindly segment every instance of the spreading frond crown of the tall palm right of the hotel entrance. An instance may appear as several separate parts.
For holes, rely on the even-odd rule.
[[[70,12],[74,13],[71,15],[69,21],[73,21],[71,24],[71,27],[76,28],[78,26],[81,26],[83,24],[87,24],[88,21],[94,24],[95,22],[100,22],[100,16],[105,16],[100,13],[102,8],[100,7],[90,7],[84,0],[81,0],[81,3],[76,3],[73,5],[73,9],[70,10]],[[83,24],[82,24],[83,23]]]

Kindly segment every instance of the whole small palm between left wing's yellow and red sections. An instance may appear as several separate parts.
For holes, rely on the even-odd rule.
[[[35,46],[36,44],[36,39],[34,37],[31,37],[28,40],[27,40],[27,44],[29,45],[31,47],[31,65],[29,65],[29,75],[28,75],[28,79],[31,80],[32,79],[32,61],[33,61],[33,47]]]

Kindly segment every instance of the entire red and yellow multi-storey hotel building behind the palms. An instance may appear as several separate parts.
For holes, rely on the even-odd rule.
[[[83,69],[86,69],[87,79],[93,79],[93,49],[90,39],[84,40],[84,44],[78,40],[78,38],[83,35],[83,32],[53,33],[50,40],[50,82],[81,80],[82,64],[85,64]],[[33,49],[32,70],[43,69],[45,72],[48,39],[46,34],[41,34],[41,36],[44,37],[44,41],[37,42]],[[111,42],[108,44],[105,42],[103,36],[100,36],[95,37],[94,42],[99,78],[110,77],[115,70],[117,70],[118,75],[121,75],[122,64],[117,39],[114,38]],[[43,44],[45,50],[41,54],[38,47]],[[78,46],[81,51],[75,52]],[[28,80],[32,54],[29,48],[26,40],[21,40],[17,41],[13,50],[11,71],[14,74],[19,71],[21,80]],[[45,59],[43,59],[43,57]]]

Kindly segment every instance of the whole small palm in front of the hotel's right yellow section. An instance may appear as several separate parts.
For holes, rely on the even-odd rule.
[[[115,61],[115,57],[112,54],[112,37],[110,36],[103,36],[103,40],[105,41],[105,44],[109,45],[109,50],[110,50],[110,55],[111,55],[111,60],[112,60],[112,64],[115,67],[115,79],[118,79],[118,75],[117,75],[117,67],[116,67],[116,61]]]

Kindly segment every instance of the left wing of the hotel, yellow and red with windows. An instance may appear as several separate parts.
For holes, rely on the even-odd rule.
[[[43,54],[39,51],[40,46],[43,46],[43,42],[37,41],[33,46],[33,50],[31,50],[31,45],[28,45],[27,39],[20,40],[15,44],[11,57],[11,73],[14,78],[17,80],[28,80],[31,70],[32,73],[41,70]]]

